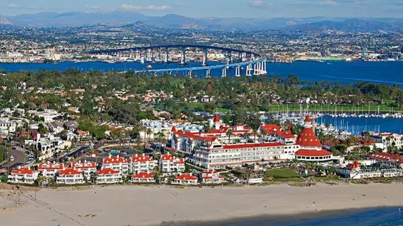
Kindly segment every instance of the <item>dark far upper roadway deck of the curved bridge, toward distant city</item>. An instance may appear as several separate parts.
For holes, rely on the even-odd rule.
[[[240,49],[231,49],[226,47],[214,47],[207,45],[198,45],[198,44],[168,44],[168,45],[158,45],[151,47],[133,47],[127,49],[103,49],[103,50],[93,50],[90,51],[90,54],[107,54],[113,52],[125,52],[125,51],[137,51],[137,50],[147,50],[147,49],[185,49],[185,48],[195,48],[195,49],[217,49],[225,52],[236,52],[236,53],[245,53],[245,54],[253,54],[255,57],[261,57],[260,54],[255,52],[243,51]]]

